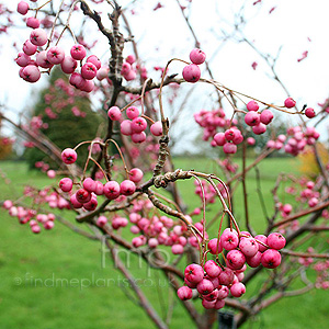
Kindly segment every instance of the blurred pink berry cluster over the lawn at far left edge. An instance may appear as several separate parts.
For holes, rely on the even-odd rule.
[[[37,214],[34,209],[14,206],[11,200],[5,200],[3,202],[3,207],[8,209],[10,216],[18,217],[20,224],[29,223],[31,230],[34,234],[41,232],[39,225],[42,225],[45,229],[52,229],[54,227],[54,220],[56,217],[52,213]]]

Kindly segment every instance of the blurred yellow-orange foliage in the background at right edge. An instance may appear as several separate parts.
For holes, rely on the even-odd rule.
[[[317,143],[317,151],[326,169],[326,166],[329,162],[328,149],[324,144]],[[320,172],[313,147],[307,146],[304,151],[298,155],[298,159],[300,163],[299,170],[302,173],[310,178],[315,178]]]

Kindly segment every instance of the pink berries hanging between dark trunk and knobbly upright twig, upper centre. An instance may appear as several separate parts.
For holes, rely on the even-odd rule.
[[[121,122],[121,133],[125,136],[131,136],[134,143],[144,143],[146,140],[145,131],[147,128],[147,121],[139,116],[139,110],[136,106],[126,109],[128,118],[122,118],[122,112],[117,106],[112,106],[107,111],[107,115],[112,121]],[[150,132],[154,136],[162,135],[162,124],[157,121],[150,126]]]

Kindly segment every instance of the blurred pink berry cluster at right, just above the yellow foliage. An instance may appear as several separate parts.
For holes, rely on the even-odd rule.
[[[276,140],[270,139],[266,146],[275,149],[284,147],[286,154],[298,156],[307,145],[314,145],[320,134],[314,127],[307,127],[303,132],[300,126],[296,126],[287,129],[287,136],[288,138],[285,135],[279,135]]]

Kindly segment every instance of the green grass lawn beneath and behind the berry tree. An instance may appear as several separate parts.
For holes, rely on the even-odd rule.
[[[175,163],[177,168],[219,172],[214,162],[200,158],[178,158]],[[41,173],[27,171],[21,162],[0,162],[0,168],[11,180],[10,185],[0,180],[0,201],[19,196],[24,183],[43,186],[49,182]],[[298,163],[294,159],[269,159],[259,168],[263,174],[261,185],[265,205],[271,214],[271,189],[277,174],[286,169],[298,173]],[[264,222],[254,177],[254,171],[250,171],[248,197],[252,224],[261,232]],[[179,186],[184,200],[189,201],[186,203],[200,206],[192,181],[179,182]],[[240,186],[235,191],[235,214],[243,225]],[[209,218],[215,212],[216,206],[209,212]],[[101,242],[73,234],[59,223],[54,230],[43,230],[35,236],[3,209],[0,214],[0,328],[155,328],[132,295],[127,297],[126,283],[113,269],[110,258],[102,262]],[[213,227],[211,231],[215,229]],[[168,300],[177,299],[169,293],[163,276],[145,265],[139,266],[136,257],[131,258],[131,268],[159,315],[166,314]],[[148,281],[143,281],[145,277]],[[249,292],[253,290],[257,290],[257,283]],[[327,292],[313,291],[280,300],[243,328],[325,329],[328,328],[328,305]],[[194,328],[178,302],[170,328]]]

